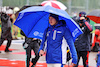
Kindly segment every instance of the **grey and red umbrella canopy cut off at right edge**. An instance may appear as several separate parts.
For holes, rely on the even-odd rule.
[[[96,23],[100,23],[100,9],[96,9],[91,11],[87,17],[89,17],[92,21]]]

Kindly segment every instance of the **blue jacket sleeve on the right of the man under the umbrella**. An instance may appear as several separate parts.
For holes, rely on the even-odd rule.
[[[74,46],[74,41],[70,31],[67,28],[65,29],[64,37],[69,45],[70,52],[72,54],[72,58],[73,58],[72,63],[77,64],[77,52]]]

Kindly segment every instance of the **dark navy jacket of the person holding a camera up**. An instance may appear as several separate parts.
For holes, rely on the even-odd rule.
[[[83,34],[75,40],[75,47],[77,51],[90,51],[90,32],[93,30],[89,24],[89,20],[83,20],[84,27],[81,27]],[[79,23],[79,22],[78,22]]]

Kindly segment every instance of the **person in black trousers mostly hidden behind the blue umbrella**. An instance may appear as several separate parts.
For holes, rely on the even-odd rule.
[[[23,36],[25,36],[24,32],[21,30],[21,34]],[[36,62],[39,59],[39,54],[38,54],[38,50],[39,50],[39,44],[40,44],[40,40],[36,39],[36,38],[28,38],[25,36],[25,42],[23,43],[23,47],[26,50],[26,67],[30,66],[30,58],[31,58],[31,50],[33,50],[35,52],[35,58],[32,58],[32,66],[31,67],[35,67]]]

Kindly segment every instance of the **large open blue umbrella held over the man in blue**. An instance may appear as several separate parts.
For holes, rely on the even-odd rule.
[[[59,20],[65,20],[73,40],[82,34],[81,29],[66,11],[51,6],[33,6],[19,12],[15,25],[23,30],[27,37],[42,39],[44,30],[49,26],[49,13],[59,15]]]

